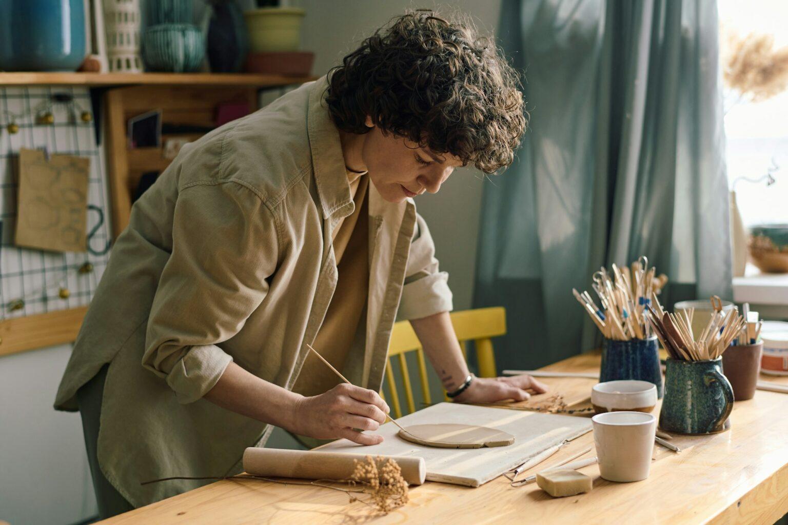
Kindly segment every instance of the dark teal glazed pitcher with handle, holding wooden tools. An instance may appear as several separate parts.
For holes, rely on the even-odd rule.
[[[716,434],[730,428],[734,390],[715,360],[667,360],[660,429],[677,434]]]

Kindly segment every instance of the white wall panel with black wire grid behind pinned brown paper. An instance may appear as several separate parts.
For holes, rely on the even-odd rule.
[[[54,102],[53,94],[71,94],[73,102]],[[41,110],[52,113],[54,124],[36,123]],[[82,112],[91,112],[86,87],[0,87],[0,320],[87,305],[106,268],[111,229],[104,154],[96,145],[94,123],[81,120]],[[15,134],[6,128],[12,119],[19,128]],[[96,229],[88,238],[95,253],[14,246],[20,148],[46,148],[48,153],[90,158],[87,204],[98,207],[103,214],[101,217],[95,209],[87,212],[87,233]],[[85,263],[92,264],[91,272],[80,272]],[[61,288],[69,290],[68,298],[61,298]],[[19,299],[24,307],[13,309]]]

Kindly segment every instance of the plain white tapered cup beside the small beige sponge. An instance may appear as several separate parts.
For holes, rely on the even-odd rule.
[[[599,473],[608,481],[649,477],[656,417],[645,412],[605,412],[591,418]]]

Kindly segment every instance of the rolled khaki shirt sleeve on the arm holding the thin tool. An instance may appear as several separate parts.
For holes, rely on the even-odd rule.
[[[142,364],[181,403],[203,397],[232,362],[217,344],[266,297],[277,250],[273,214],[251,189],[229,181],[180,191]]]

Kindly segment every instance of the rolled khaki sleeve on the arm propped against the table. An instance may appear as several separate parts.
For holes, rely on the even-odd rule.
[[[418,213],[405,275],[397,320],[421,319],[452,311],[448,273],[439,271],[433,238],[429,235],[425,220]]]

